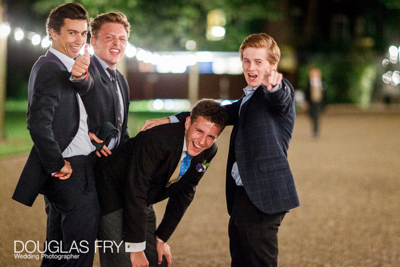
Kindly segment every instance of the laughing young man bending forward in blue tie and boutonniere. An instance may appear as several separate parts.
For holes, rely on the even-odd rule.
[[[98,239],[116,244],[113,251],[100,251],[102,266],[158,266],[163,257],[164,266],[171,265],[166,241],[217,153],[215,141],[226,122],[218,102],[201,100],[184,122],[142,131],[100,159],[96,174],[101,207]],[[187,171],[182,159],[190,162]],[[166,198],[164,217],[155,229],[151,204]]]

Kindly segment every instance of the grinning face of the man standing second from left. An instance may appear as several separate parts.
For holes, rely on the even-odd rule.
[[[127,44],[127,33],[124,26],[116,22],[104,23],[97,37],[90,39],[94,52],[103,59],[110,69],[123,57]]]

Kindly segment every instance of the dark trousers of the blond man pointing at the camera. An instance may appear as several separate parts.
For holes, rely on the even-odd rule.
[[[231,267],[277,266],[278,227],[285,214],[261,212],[243,186],[237,187],[228,228]]]

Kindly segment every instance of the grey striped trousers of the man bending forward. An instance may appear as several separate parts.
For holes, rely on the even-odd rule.
[[[163,257],[158,265],[158,256],[155,240],[156,218],[153,205],[147,207],[147,232],[145,255],[149,267],[166,267],[167,260]],[[101,267],[131,267],[130,254],[125,252],[123,240],[123,209],[113,211],[100,217],[98,242],[109,243],[110,247],[99,249]],[[111,246],[111,242],[112,246]],[[122,243],[121,243],[122,242]],[[119,247],[118,247],[119,246]]]

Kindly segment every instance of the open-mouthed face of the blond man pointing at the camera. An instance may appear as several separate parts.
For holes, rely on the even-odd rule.
[[[242,67],[247,84],[253,88],[262,83],[264,75],[276,70],[276,64],[271,65],[267,59],[267,50],[255,47],[244,49]]]

